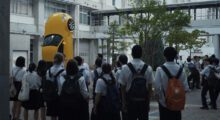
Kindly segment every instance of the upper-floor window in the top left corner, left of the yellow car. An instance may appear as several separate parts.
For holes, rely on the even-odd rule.
[[[11,0],[10,12],[18,15],[33,16],[33,0]]]

